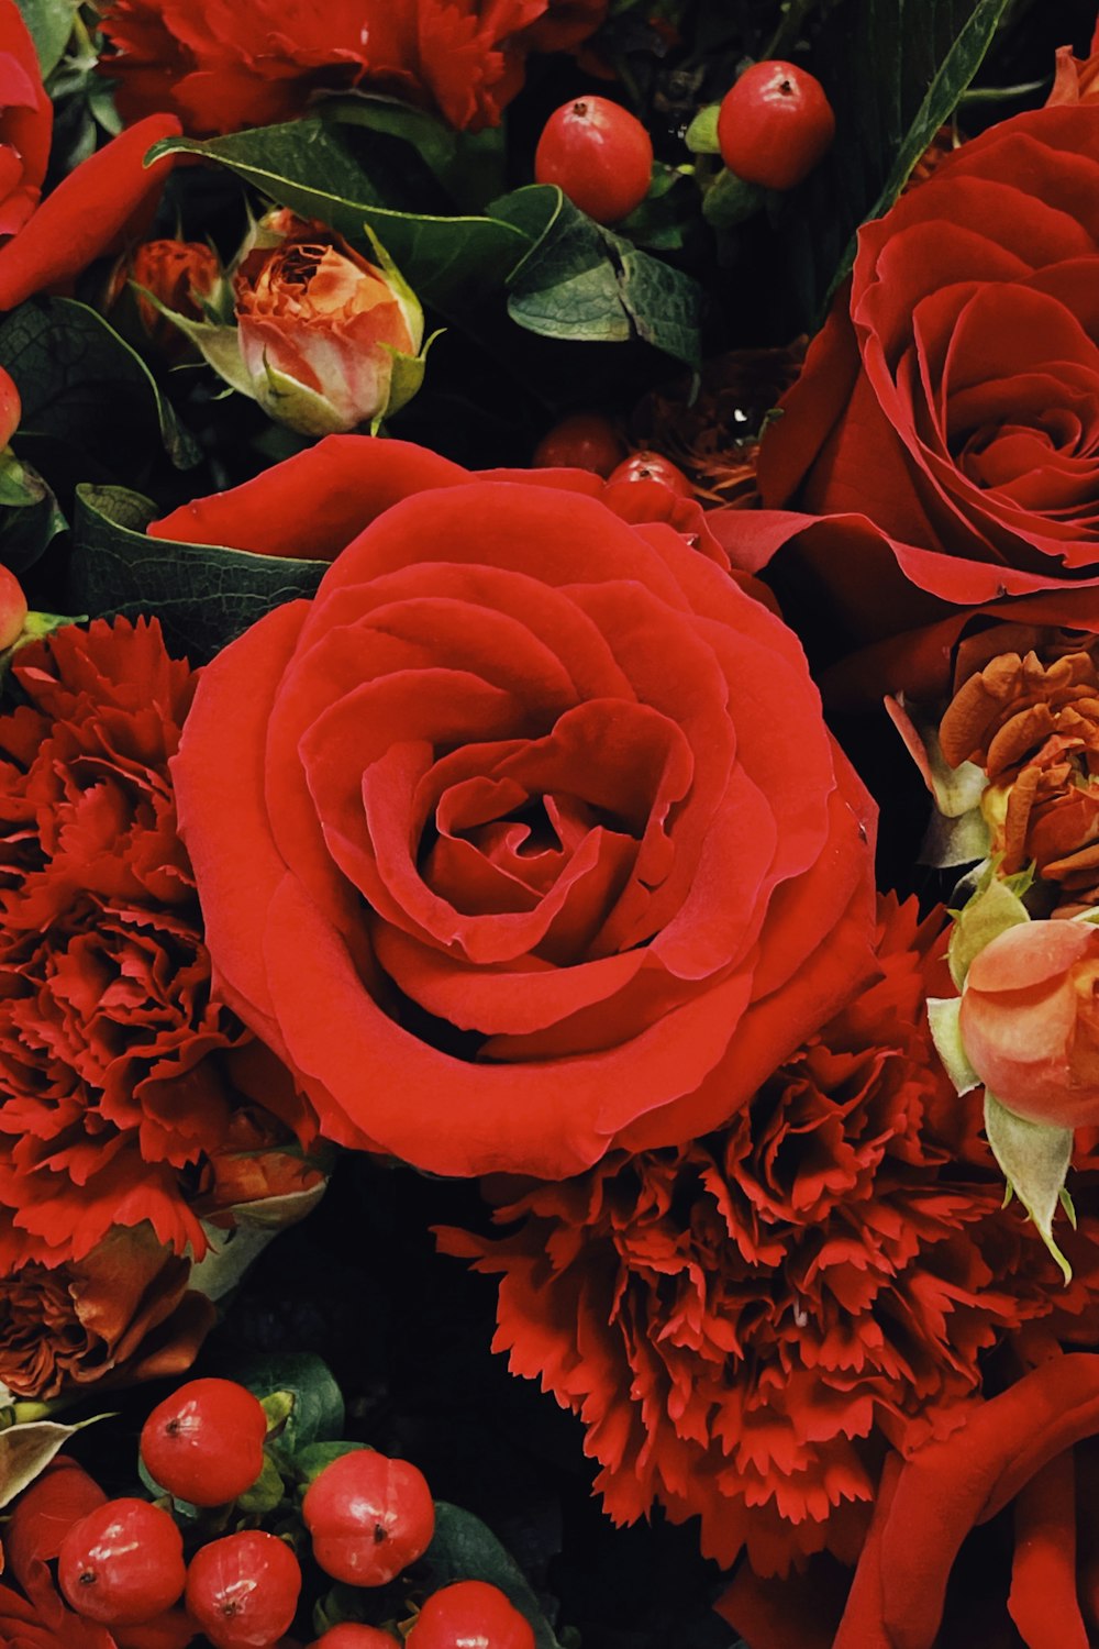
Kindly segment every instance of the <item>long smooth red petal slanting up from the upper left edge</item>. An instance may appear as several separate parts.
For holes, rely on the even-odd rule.
[[[160,139],[178,134],[173,115],[150,115],[63,178],[0,246],[0,310],[74,280],[96,257],[140,234],[173,165],[168,157],[147,168],[145,155]]]

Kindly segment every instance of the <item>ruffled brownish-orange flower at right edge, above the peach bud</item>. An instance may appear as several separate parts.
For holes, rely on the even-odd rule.
[[[952,767],[975,762],[989,775],[980,806],[1002,874],[1033,859],[1056,886],[1061,914],[1099,902],[1096,646],[977,663],[939,727]]]

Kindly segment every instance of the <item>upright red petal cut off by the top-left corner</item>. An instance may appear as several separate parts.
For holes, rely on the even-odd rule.
[[[0,234],[38,206],[53,135],[53,104],[15,0],[0,0]]]

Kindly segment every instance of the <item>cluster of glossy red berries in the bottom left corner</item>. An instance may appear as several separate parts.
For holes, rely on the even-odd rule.
[[[153,1408],[140,1454],[157,1486],[196,1507],[221,1507],[264,1471],[267,1413],[234,1380],[191,1380]],[[435,1504],[415,1466],[354,1448],[310,1482],[302,1517],[316,1565],[349,1586],[384,1586],[423,1555]],[[183,1600],[214,1649],[272,1649],[290,1629],[302,1593],[293,1547],[262,1529],[209,1540],[191,1557],[160,1506],[115,1499],[76,1522],[58,1555],[58,1583],[77,1614],[102,1626],[140,1626]],[[313,1649],[394,1649],[376,1626],[341,1623]],[[407,1633],[410,1649],[534,1649],[524,1614],[496,1586],[458,1581],[435,1591]]]

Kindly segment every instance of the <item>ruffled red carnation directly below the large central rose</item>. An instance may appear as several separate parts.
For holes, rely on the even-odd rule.
[[[942,950],[885,900],[877,983],[718,1135],[526,1191],[498,1242],[442,1233],[503,1273],[496,1349],[580,1415],[615,1520],[699,1514],[758,1573],[853,1562],[886,1445],[961,1425],[982,1352],[1099,1327],[1099,1250],[1055,1285],[931,1052]]]

